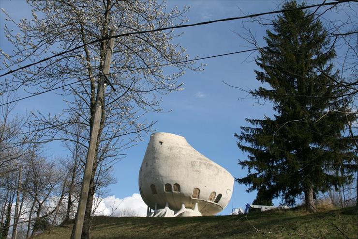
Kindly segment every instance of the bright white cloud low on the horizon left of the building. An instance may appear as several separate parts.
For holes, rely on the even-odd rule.
[[[143,202],[142,197],[138,193],[134,193],[132,196],[123,199],[116,198],[116,196],[113,195],[102,198],[94,215],[145,217],[147,216],[147,205]]]

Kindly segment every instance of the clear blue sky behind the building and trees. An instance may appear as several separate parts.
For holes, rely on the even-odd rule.
[[[169,8],[178,5],[191,6],[187,13],[189,23],[200,21],[240,16],[272,11],[279,1],[169,1]],[[314,4],[317,4],[315,1]],[[24,1],[0,1],[10,16],[19,20],[24,16],[30,17],[30,9]],[[337,17],[334,12],[328,12],[325,16]],[[271,18],[272,16],[266,16]],[[341,17],[341,16],[339,16]],[[1,49],[5,52],[10,49],[9,43],[3,34],[4,14],[1,13]],[[246,26],[257,35],[258,42],[264,46],[262,37],[265,34],[264,27],[255,23],[246,23]],[[206,57],[245,50],[248,44],[239,38],[235,32],[242,33],[241,21],[214,23],[205,26],[180,29],[184,32],[178,42],[192,57]],[[174,92],[163,97],[162,108],[173,110],[169,113],[150,113],[148,121],[157,121],[153,130],[156,132],[170,132],[184,136],[187,141],[200,153],[226,168],[234,177],[246,175],[247,171],[238,165],[238,159],[245,159],[245,155],[236,145],[234,133],[240,132],[241,126],[246,126],[245,118],[263,118],[271,116],[271,104],[258,104],[253,99],[242,99],[247,94],[238,89],[228,87],[223,81],[242,88],[255,88],[260,83],[255,80],[254,62],[245,62],[249,53],[213,58],[200,63],[207,64],[204,71],[190,72],[179,79],[184,83],[184,90]],[[254,55],[253,55],[254,56]],[[253,56],[249,60],[253,60]],[[18,96],[27,94],[19,92]],[[46,93],[42,96],[32,97],[18,102],[17,113],[30,111],[59,113],[64,107],[60,96],[54,93]],[[126,150],[127,157],[115,164],[114,172],[118,183],[110,185],[109,195],[118,198],[139,193],[138,173],[142,162],[149,136],[144,142]],[[61,156],[63,148],[60,143],[49,145],[46,153],[51,156]],[[232,207],[244,207],[246,203],[252,203],[256,193],[246,193],[247,187],[235,183],[233,197],[222,215],[230,214]],[[274,204],[278,205],[279,200]]]

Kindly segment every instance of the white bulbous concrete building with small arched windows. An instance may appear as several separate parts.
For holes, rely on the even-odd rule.
[[[150,136],[139,171],[147,216],[215,215],[230,201],[233,186],[233,176],[197,152],[184,137],[170,133]]]

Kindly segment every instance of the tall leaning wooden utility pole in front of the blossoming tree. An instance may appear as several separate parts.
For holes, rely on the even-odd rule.
[[[112,29],[109,35],[113,36],[114,34],[115,34],[115,30]],[[74,229],[72,230],[71,239],[81,238],[83,221],[85,218],[87,198],[90,189],[93,161],[96,153],[98,131],[99,131],[101,117],[102,117],[102,104],[103,104],[104,90],[105,90],[104,82],[105,82],[105,76],[108,75],[109,73],[109,66],[112,60],[113,46],[114,46],[114,38],[110,38],[108,40],[107,52],[105,54],[103,70],[102,70],[104,76],[100,78],[98,92],[97,92],[94,120],[91,126],[90,146],[88,148],[85,172],[82,180],[81,194],[80,194],[77,213],[76,213],[76,221],[75,221]]]

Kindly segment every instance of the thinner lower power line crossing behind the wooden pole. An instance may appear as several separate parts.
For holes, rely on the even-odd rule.
[[[357,34],[357,33],[358,33],[358,31],[355,31],[355,32],[346,32],[346,33],[340,33],[340,34],[332,34],[332,35],[326,36],[326,37],[324,37],[324,38],[328,38],[328,37],[338,37],[338,36],[346,36],[346,35]],[[302,42],[306,42],[306,41],[302,41]],[[273,46],[273,47],[277,47],[277,46]],[[205,60],[205,59],[210,59],[210,58],[215,58],[215,57],[229,56],[229,55],[234,55],[234,54],[239,54],[239,53],[245,53],[245,52],[255,51],[255,50],[258,50],[258,49],[268,49],[268,48],[270,48],[270,47],[252,48],[252,49],[248,49],[248,50],[234,51],[234,52],[229,52],[229,53],[224,53],[224,54],[219,54],[219,55],[206,56],[206,57],[201,57],[201,58],[194,58],[194,59],[185,60],[185,61],[180,61],[180,62],[171,62],[171,63],[161,64],[161,65],[154,65],[154,66],[149,66],[149,67],[144,67],[144,68],[137,68],[137,69],[132,69],[132,70],[125,70],[125,71],[113,72],[113,73],[109,73],[108,75],[126,73],[126,72],[137,71],[137,70],[145,70],[145,69],[150,69],[150,68],[154,68],[154,67],[161,67],[161,66],[167,66],[167,65],[172,65],[172,64],[180,64],[180,63],[186,63],[186,62],[193,62],[193,61]],[[98,77],[98,76],[100,76],[100,75],[93,76],[92,78]],[[105,76],[105,77],[106,77],[106,76]],[[63,87],[69,86],[69,85],[73,85],[73,84],[75,84],[75,83],[79,83],[79,82],[84,81],[84,80],[90,80],[90,78],[86,78],[86,79],[82,79],[82,80],[77,80],[77,81],[75,81],[75,82],[68,83],[68,84],[65,84],[65,85],[62,85],[62,86],[59,86],[59,87],[56,87],[56,88],[52,88],[52,89],[49,89],[49,90],[46,90],[46,91],[43,91],[43,92],[39,92],[39,93],[30,95],[30,96],[26,96],[26,97],[23,97],[23,98],[19,98],[19,99],[16,99],[16,100],[13,100],[13,101],[10,101],[10,102],[1,104],[0,106],[8,105],[8,104],[11,104],[11,103],[14,103],[14,102],[23,100],[23,99],[27,99],[27,98],[33,97],[33,96],[42,95],[42,94],[44,94],[44,93],[47,93],[47,92],[50,92],[50,91],[54,91],[54,90],[58,90],[58,89],[60,89],[60,88],[63,88]],[[108,80],[108,81],[109,81],[109,80]],[[113,87],[113,85],[112,85],[112,87]],[[112,89],[113,89],[113,88],[112,88]],[[114,100],[114,101],[115,101],[115,100]],[[111,103],[113,103],[114,101],[112,101]]]

